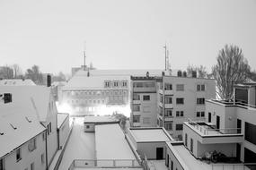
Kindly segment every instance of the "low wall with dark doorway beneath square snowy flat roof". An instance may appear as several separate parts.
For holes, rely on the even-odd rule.
[[[156,159],[156,148],[163,148],[163,158],[165,158],[166,148],[165,142],[139,142],[137,143],[137,152],[139,155],[147,159]]]

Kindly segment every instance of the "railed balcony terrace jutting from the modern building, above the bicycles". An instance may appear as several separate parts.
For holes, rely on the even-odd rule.
[[[190,134],[190,136],[197,136],[202,144],[243,142],[241,129],[216,129],[213,125],[204,122],[185,122],[183,124],[183,132]]]

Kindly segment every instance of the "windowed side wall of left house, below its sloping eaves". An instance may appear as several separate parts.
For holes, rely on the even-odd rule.
[[[22,159],[18,162],[16,161],[16,150],[13,150],[10,154],[4,157],[4,165],[6,170],[14,170],[25,168],[31,169],[31,163],[34,163],[34,169],[45,170],[46,162],[42,164],[41,154],[44,154],[44,161],[46,161],[46,145],[45,140],[42,138],[42,133],[40,133],[36,138],[36,149],[29,151],[29,142],[24,143],[21,148]]]

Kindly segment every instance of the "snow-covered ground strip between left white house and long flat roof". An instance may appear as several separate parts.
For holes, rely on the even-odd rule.
[[[73,131],[58,169],[68,169],[74,159],[95,158],[95,135],[94,133],[84,132],[84,118],[76,117]]]

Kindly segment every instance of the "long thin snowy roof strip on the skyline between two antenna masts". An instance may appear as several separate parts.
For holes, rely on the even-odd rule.
[[[87,76],[88,71],[79,70],[75,72],[75,75]],[[163,70],[90,70],[90,76],[146,76],[146,72],[149,72],[150,76],[160,76]]]

